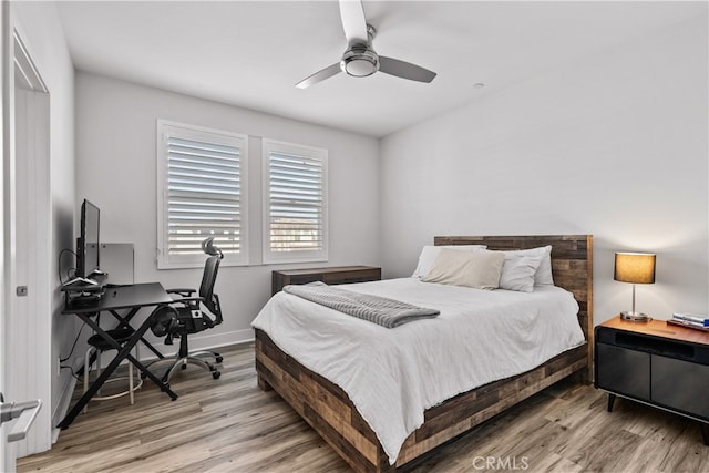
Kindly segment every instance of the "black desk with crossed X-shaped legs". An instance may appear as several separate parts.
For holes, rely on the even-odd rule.
[[[101,385],[111,376],[111,373],[119,367],[121,361],[127,359],[141,370],[142,376],[150,378],[160,389],[165,392],[174,401],[177,399],[169,385],[162,382],[155,374],[151,373],[147,368],[142,364],[135,357],[131,354],[131,350],[138,341],[143,341],[158,358],[163,358],[152,345],[143,340],[143,336],[151,327],[153,315],[148,316],[145,321],[135,330],[131,339],[122,347],[111,338],[97,323],[96,316],[99,312],[107,311],[119,320],[119,326],[130,327],[131,319],[137,313],[142,307],[161,306],[163,304],[171,304],[173,299],[165,291],[160,282],[136,284],[131,286],[122,286],[115,288],[107,288],[103,297],[92,304],[75,305],[69,302],[63,315],[75,315],[81,318],[89,327],[91,327],[96,333],[103,337],[106,342],[117,350],[117,354],[105,370],[101,372],[101,376],[89,387],[89,390],[81,397],[81,399],[74,404],[69,413],[62,419],[58,428],[66,429],[74,418],[79,415],[84,405],[91,400],[91,398],[99,391]],[[121,316],[116,310],[130,309],[129,313]]]

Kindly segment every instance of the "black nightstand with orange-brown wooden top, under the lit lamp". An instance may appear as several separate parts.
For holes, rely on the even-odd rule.
[[[709,445],[709,332],[620,317],[595,329],[594,385],[700,422]]]

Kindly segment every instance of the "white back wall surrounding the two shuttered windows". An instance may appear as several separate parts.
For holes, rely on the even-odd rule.
[[[307,266],[379,265],[378,141],[265,113],[89,73],[76,74],[76,195],[101,208],[101,238],[133,243],[135,280],[197,287],[201,269],[156,269],[155,121],[249,135],[253,257],[260,248],[260,138],[329,151],[330,258]],[[292,265],[291,265],[292,266]],[[297,265],[306,267],[306,265]],[[250,321],[270,296],[271,270],[286,265],[223,267],[216,284],[225,322],[192,346],[253,338]]]

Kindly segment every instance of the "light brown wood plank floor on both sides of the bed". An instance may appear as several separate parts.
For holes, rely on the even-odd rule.
[[[19,472],[347,472],[347,464],[275,392],[256,387],[254,347],[222,350],[222,378],[188,368],[169,399],[150,382],[91,402],[50,452]],[[701,393],[702,395],[706,393]],[[696,422],[562,381],[448,443],[423,472],[709,472]]]

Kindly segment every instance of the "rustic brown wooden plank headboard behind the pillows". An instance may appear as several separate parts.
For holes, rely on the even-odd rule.
[[[593,235],[533,236],[436,236],[433,244],[486,245],[487,249],[527,249],[552,245],[554,284],[574,294],[578,302],[578,323],[593,347]]]

